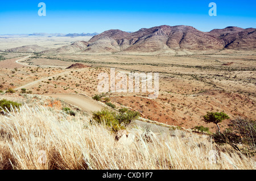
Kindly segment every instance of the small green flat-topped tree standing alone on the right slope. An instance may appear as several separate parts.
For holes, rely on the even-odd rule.
[[[214,123],[218,127],[218,132],[220,132],[220,127],[218,123],[221,123],[222,120],[229,119],[229,116],[224,112],[207,112],[207,115],[204,115],[204,121],[206,123]]]

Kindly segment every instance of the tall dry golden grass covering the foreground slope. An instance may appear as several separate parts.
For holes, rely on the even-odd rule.
[[[134,135],[133,142],[115,141],[108,129],[79,113],[25,105],[0,116],[0,169],[255,169],[253,158],[231,149],[219,149],[211,163],[216,145],[193,134],[153,142]]]

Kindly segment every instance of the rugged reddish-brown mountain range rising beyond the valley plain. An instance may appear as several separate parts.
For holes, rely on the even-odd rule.
[[[157,26],[136,32],[108,30],[94,35],[88,42],[76,41],[42,53],[177,53],[193,54],[223,49],[255,50],[256,29],[226,27],[202,32],[191,26]],[[181,53],[182,54],[182,53]]]

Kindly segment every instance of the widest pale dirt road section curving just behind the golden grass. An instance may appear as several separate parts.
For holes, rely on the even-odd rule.
[[[88,98],[84,95],[76,95],[76,94],[49,94],[52,98],[59,98],[60,100],[64,100],[69,104],[73,104],[86,112],[91,111],[100,111],[105,106],[103,104],[98,103],[96,100]]]

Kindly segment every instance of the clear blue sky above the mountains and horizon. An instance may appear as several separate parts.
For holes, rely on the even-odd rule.
[[[46,16],[38,16],[39,2],[46,3]],[[217,4],[217,16],[209,16],[210,2]],[[255,0],[1,1],[0,34],[137,31],[163,24],[200,31],[255,28],[255,9]]]

